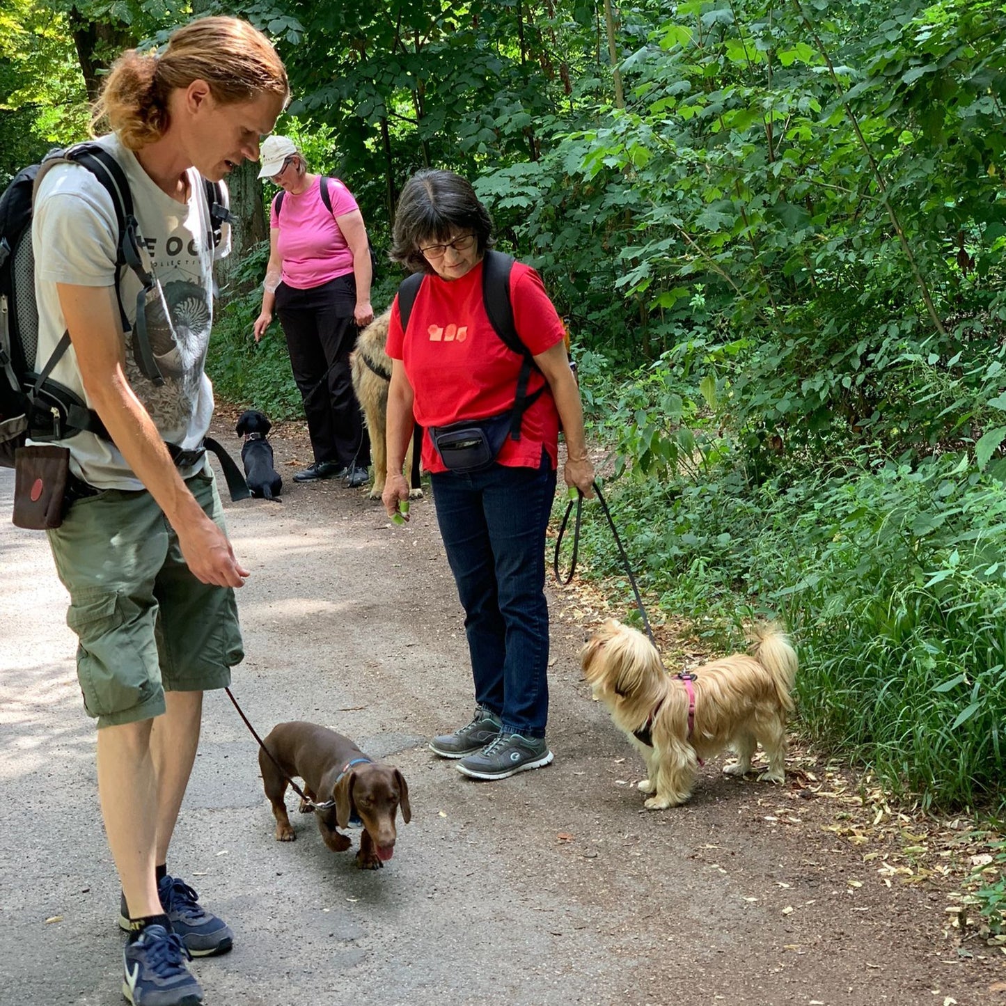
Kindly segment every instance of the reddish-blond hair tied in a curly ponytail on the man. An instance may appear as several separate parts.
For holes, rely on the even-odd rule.
[[[290,95],[283,60],[261,31],[236,17],[203,17],[175,31],[161,53],[124,52],[105,79],[93,123],[107,121],[124,146],[140,150],[164,136],[171,93],[193,80],[205,80],[222,105]]]

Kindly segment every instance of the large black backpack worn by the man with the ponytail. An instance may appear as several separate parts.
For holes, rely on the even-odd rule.
[[[130,324],[122,303],[120,279],[131,269],[145,288],[156,282],[142,264],[133,214],[133,198],[126,174],[116,159],[97,143],[80,143],[49,151],[41,164],[32,164],[14,176],[0,195],[0,466],[14,465],[14,452],[26,437],[37,441],[65,440],[81,431],[109,439],[98,414],[78,395],[52,380],[49,374],[69,347],[63,333],[45,365],[35,370],[38,349],[38,305],[35,302],[35,259],[31,244],[32,194],[35,178],[52,162],[73,162],[87,168],[112,197],[119,223],[116,262],[116,297],[123,331]],[[204,179],[213,226],[219,243],[221,228],[230,214],[223,204],[218,182]],[[150,345],[137,333],[137,363],[145,376],[163,384]]]

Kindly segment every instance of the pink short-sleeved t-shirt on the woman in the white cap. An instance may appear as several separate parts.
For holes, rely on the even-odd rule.
[[[295,290],[320,287],[353,271],[353,253],[335,222],[338,216],[359,209],[352,193],[338,178],[329,178],[330,213],[321,198],[321,176],[304,192],[283,196],[282,219],[273,199],[270,226],[280,228],[277,247],[283,259],[283,282]]]

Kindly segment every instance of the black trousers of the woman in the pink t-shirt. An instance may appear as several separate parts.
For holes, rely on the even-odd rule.
[[[287,337],[294,380],[304,401],[315,461],[370,464],[370,441],[353,392],[349,354],[358,329],[356,283],[339,276],[320,287],[276,292],[276,313]]]

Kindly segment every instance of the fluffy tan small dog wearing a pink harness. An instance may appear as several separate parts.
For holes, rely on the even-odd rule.
[[[579,659],[595,695],[646,762],[647,778],[637,785],[653,794],[649,810],[683,804],[699,764],[726,747],[738,761],[723,772],[747,773],[761,743],[769,771],[760,779],[783,782],[797,655],[778,626],[757,628],[750,654],[703,664],[689,681],[669,674],[653,644],[615,619],[592,635]]]

